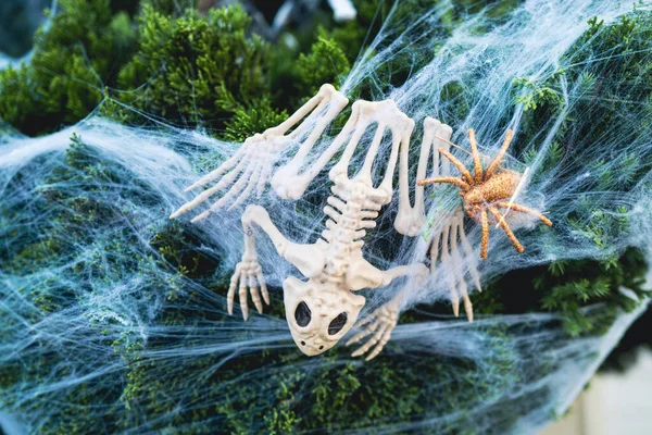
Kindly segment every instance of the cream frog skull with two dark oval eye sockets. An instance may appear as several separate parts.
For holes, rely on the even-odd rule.
[[[303,282],[290,276],[283,290],[290,333],[309,357],[335,346],[353,326],[365,302],[363,296],[315,278]]]

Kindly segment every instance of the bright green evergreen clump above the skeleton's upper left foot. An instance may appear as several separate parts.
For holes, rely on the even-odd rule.
[[[189,9],[178,18],[146,7],[138,51],[120,73],[118,98],[167,120],[223,127],[241,104],[269,95],[268,46],[247,36],[250,22],[240,7],[208,16]]]

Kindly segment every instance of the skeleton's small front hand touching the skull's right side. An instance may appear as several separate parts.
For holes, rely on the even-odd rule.
[[[358,327],[363,330],[355,334],[349,341],[347,341],[347,346],[350,346],[361,341],[367,336],[371,336],[368,340],[362,347],[351,353],[351,356],[360,357],[374,347],[374,350],[372,350],[372,352],[365,358],[365,361],[374,359],[378,353],[380,353],[387,341],[389,341],[391,338],[391,332],[396,327],[398,320],[399,304],[396,301],[392,300],[376,309],[372,314],[358,324]]]

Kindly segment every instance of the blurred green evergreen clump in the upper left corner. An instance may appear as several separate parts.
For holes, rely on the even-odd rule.
[[[61,0],[49,29],[35,36],[29,65],[0,72],[0,119],[35,135],[79,121],[130,55],[128,15],[109,0]]]

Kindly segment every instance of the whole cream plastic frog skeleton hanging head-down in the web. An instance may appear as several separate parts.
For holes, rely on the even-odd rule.
[[[353,326],[365,304],[365,298],[356,295],[355,291],[384,287],[401,276],[412,278],[405,286],[423,285],[426,282],[430,271],[424,263],[400,265],[383,271],[364,258],[362,239],[367,229],[376,226],[378,212],[392,200],[397,164],[399,164],[399,211],[394,228],[398,233],[413,237],[423,231],[426,222],[424,186],[428,183],[451,183],[460,186],[466,192],[464,207],[467,213],[475,220],[479,220],[482,228],[488,222],[487,210],[481,207],[481,201],[478,202],[476,197],[479,194],[473,194],[475,191],[473,188],[477,190],[482,186],[485,179],[490,179],[490,177],[480,175],[474,185],[469,179],[457,183],[457,178],[450,176],[449,160],[460,171],[464,166],[449,152],[452,129],[431,117],[424,121],[424,136],[416,170],[416,179],[419,182],[415,181],[411,185],[408,159],[414,121],[402,113],[391,100],[354,102],[351,107],[351,115],[341,132],[323,153],[313,162],[309,162],[310,151],[348,102],[349,100],[333,86],[322,86],[319,92],[288,120],[262,134],[248,138],[234,157],[191,185],[187,190],[217,181],[214,186],[199,194],[171,215],[171,219],[174,219],[205,202],[217,191],[228,189],[209,210],[192,220],[192,222],[201,221],[227,206],[229,210],[238,207],[248,200],[254,190],[258,198],[261,198],[267,184],[271,184],[281,198],[297,200],[303,196],[309,184],[324,166],[343,149],[339,161],[328,173],[333,182],[330,188],[333,195],[327,198],[323,209],[327,216],[326,228],[322,232],[322,237],[314,244],[292,243],[280,233],[263,207],[252,203],[247,206],[241,217],[244,252],[241,261],[236,265],[227,294],[229,314],[233,313],[237,291],[244,320],[249,315],[248,295],[251,296],[259,312],[263,311],[263,300],[265,303],[269,303],[263,271],[255,250],[253,229],[258,227],[271,238],[277,252],[308,278],[308,281],[302,281],[289,276],[283,283],[286,318],[292,338],[299,349],[308,356],[318,355],[331,348]],[[377,128],[366,148],[364,162],[355,175],[350,176],[351,159],[356,148],[365,146],[361,145],[363,134],[374,124],[377,125]],[[290,129],[292,130],[290,132]],[[390,134],[391,145],[384,166],[386,169],[379,179],[373,179],[374,161],[377,159],[380,144],[387,132]],[[296,144],[299,144],[298,150],[289,162],[275,167],[287,147]],[[434,148],[436,145],[439,146],[439,152]],[[473,149],[475,157],[475,152],[477,152],[475,145]],[[504,151],[501,149],[503,154]],[[442,159],[440,162],[439,153],[446,156],[448,160]],[[430,178],[425,179],[430,165],[430,154],[432,156],[431,174],[429,174]],[[500,163],[498,158],[496,160]],[[493,172],[496,167],[491,166],[490,170]],[[463,176],[466,176],[467,172],[464,169]],[[494,176],[498,177],[501,174],[504,173]],[[489,171],[487,171],[487,175],[490,175]],[[512,183],[513,179],[510,178],[509,182]],[[500,183],[496,184],[504,187]],[[510,184],[507,187],[511,186]],[[414,206],[410,199],[411,187],[414,188]],[[504,194],[509,194],[507,190],[509,188],[503,188],[502,196],[498,195],[500,197],[498,198],[494,195],[497,198],[492,199],[509,199],[510,195],[503,198]],[[501,207],[501,204],[499,203],[497,207]],[[512,209],[519,210],[514,206]],[[489,210],[493,213],[492,208]],[[523,207],[521,211],[538,213]],[[500,214],[500,212],[498,213]],[[537,215],[540,216],[540,214]],[[464,233],[462,207],[446,217],[449,219],[448,224],[440,234],[432,238],[430,245],[431,270],[435,270],[439,256],[442,261],[461,264],[460,247],[465,256],[473,257],[471,244]],[[510,235],[511,232],[507,234]],[[482,235],[482,252],[486,252],[485,232]],[[480,290],[479,274],[475,263],[473,264],[468,268],[468,273],[477,289]],[[461,268],[452,269],[451,273],[455,275],[451,281],[450,288],[453,310],[457,315],[459,300],[462,298],[467,318],[472,321],[473,307],[464,273],[461,272]],[[369,338],[353,352],[354,357],[366,353],[373,348],[366,357],[369,360],[381,351],[398,322],[402,291],[400,290],[389,302],[375,310],[359,324],[361,331],[348,341],[348,345],[361,341],[367,336]]]

